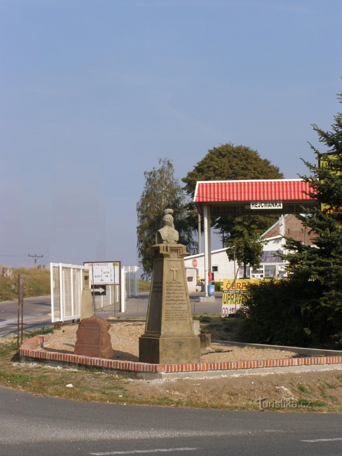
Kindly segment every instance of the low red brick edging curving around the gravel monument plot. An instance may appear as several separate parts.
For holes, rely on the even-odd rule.
[[[49,335],[34,336],[22,343],[19,356],[33,359],[62,361],[64,363],[81,364],[99,368],[116,369],[131,372],[203,372],[232,369],[277,368],[287,366],[311,366],[318,364],[340,364],[342,356],[325,356],[313,358],[279,358],[251,361],[230,361],[225,363],[194,363],[194,364],[148,364],[132,361],[93,358],[91,356],[73,355],[71,353],[46,352],[36,350],[38,345],[49,340]]]

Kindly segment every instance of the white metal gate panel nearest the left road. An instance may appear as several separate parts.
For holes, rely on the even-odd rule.
[[[84,266],[50,263],[51,321],[76,320],[81,316]]]

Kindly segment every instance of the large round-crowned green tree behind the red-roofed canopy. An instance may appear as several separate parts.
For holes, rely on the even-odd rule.
[[[256,150],[231,143],[208,150],[207,155],[197,163],[194,169],[182,179],[184,189],[194,195],[197,181],[231,181],[249,179],[281,179],[283,174],[277,166],[267,159],[262,159]],[[233,252],[238,264],[257,267],[260,264],[262,242],[259,240],[270,225],[275,223],[275,216],[264,215],[221,215],[212,217],[212,226],[218,229],[227,241],[227,254],[233,259]],[[189,220],[191,223],[191,220]],[[195,226],[193,225],[193,228]]]

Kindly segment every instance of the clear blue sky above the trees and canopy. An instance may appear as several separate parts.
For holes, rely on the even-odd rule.
[[[137,264],[158,157],[181,178],[231,141],[294,178],[310,124],[341,109],[340,0],[2,0],[0,16],[1,255]]]

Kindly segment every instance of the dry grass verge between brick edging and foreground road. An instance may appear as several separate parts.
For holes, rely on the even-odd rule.
[[[341,371],[144,381],[99,369],[77,371],[18,361],[15,337],[0,339],[0,386],[88,402],[209,409],[256,410],[259,396],[275,401],[293,397],[298,404],[310,405],[286,410],[342,411]]]

